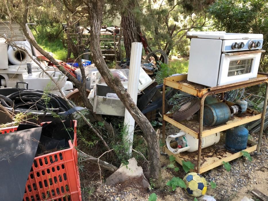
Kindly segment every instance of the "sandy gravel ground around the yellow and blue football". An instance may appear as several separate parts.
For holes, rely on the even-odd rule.
[[[167,133],[174,134],[178,132],[176,127],[168,125]],[[257,142],[258,134],[251,134],[252,141]],[[245,157],[241,157],[230,161],[231,171],[227,172],[223,166],[216,167],[202,175],[207,182],[214,181],[217,185],[215,189],[211,189],[208,184],[206,195],[214,196],[216,200],[241,200],[244,196],[253,198],[257,201],[256,197],[252,196],[251,190],[257,188],[264,194],[268,192],[268,135],[263,134],[263,141],[261,146],[262,155],[256,156],[250,153],[252,161],[248,161]],[[180,171],[175,172],[172,169],[166,168],[170,163],[168,156],[161,155],[161,171],[162,171],[162,187],[158,190],[141,190],[123,186],[118,184],[116,186],[101,185],[101,182],[96,179],[91,181],[89,188],[95,188],[94,193],[89,198],[83,200],[148,200],[149,195],[154,192],[157,194],[157,200],[193,200],[184,190],[177,188],[171,192],[165,183],[173,176],[183,178],[185,172],[180,167]],[[96,177],[99,178],[99,177]]]

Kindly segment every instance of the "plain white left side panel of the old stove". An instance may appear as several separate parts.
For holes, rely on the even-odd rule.
[[[187,80],[217,86],[222,40],[192,38]]]

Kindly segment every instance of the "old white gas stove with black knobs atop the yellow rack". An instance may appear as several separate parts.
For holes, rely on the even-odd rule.
[[[187,38],[188,81],[216,87],[257,77],[263,34],[187,32]]]

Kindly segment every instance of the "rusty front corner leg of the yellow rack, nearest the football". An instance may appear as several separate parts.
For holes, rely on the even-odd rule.
[[[196,172],[200,173],[201,167],[201,149],[202,149],[202,133],[203,133],[203,114],[204,114],[204,101],[210,93],[204,94],[201,98],[200,116],[199,116],[199,134],[198,134],[198,156],[197,156],[197,169]]]

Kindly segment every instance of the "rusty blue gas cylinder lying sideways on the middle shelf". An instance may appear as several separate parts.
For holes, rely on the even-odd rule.
[[[229,121],[231,111],[226,103],[212,103],[204,105],[203,124],[205,126],[216,126]]]

